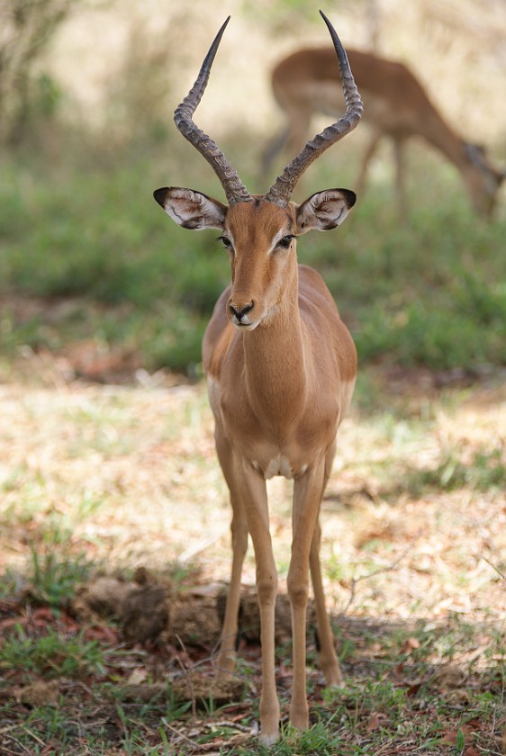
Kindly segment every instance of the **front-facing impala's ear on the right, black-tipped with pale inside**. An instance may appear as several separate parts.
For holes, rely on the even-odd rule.
[[[297,233],[335,229],[346,218],[356,199],[356,193],[349,189],[326,189],[313,194],[297,207]]]

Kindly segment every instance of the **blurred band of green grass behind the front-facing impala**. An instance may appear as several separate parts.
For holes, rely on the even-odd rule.
[[[19,157],[5,166],[0,293],[18,302],[10,310],[4,304],[0,316],[5,349],[22,341],[58,350],[99,334],[114,347],[139,350],[150,370],[194,374],[229,264],[217,232],[179,229],[154,202],[165,148],[152,149],[148,162],[127,154],[113,172],[89,155],[87,166],[63,161],[49,174],[43,163],[23,166]],[[435,165],[425,152],[413,157],[417,180],[429,181]],[[345,185],[352,168],[349,156]],[[220,196],[207,166],[200,170],[192,184]],[[315,182],[333,185],[330,161],[314,171]],[[454,172],[439,172],[432,194],[418,204],[411,196],[409,220],[399,222],[392,186],[376,179],[342,229],[299,242],[301,261],[320,270],[336,297],[362,364],[478,373],[506,364],[504,213],[491,223],[476,220]],[[24,312],[25,297],[47,301],[47,310]],[[82,304],[58,319],[54,303],[68,299]]]

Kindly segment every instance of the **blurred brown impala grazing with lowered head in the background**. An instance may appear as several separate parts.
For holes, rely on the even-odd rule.
[[[456,166],[474,210],[490,215],[505,174],[490,165],[483,148],[465,142],[447,125],[418,79],[402,63],[357,49],[348,49],[348,60],[366,106],[364,120],[372,127],[372,138],[357,179],[357,192],[364,188],[367,165],[378,142],[382,137],[389,137],[393,140],[396,164],[397,204],[403,214],[406,211],[403,147],[406,139],[420,136]],[[264,153],[264,172],[285,145],[290,154],[300,148],[315,113],[340,112],[342,94],[336,79],[334,50],[316,48],[294,52],[275,67],[272,87],[276,102],[285,113],[286,126]]]

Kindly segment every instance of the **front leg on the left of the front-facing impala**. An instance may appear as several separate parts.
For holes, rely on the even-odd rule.
[[[242,466],[242,493],[248,531],[255,548],[257,594],[262,644],[262,694],[260,696],[260,742],[272,745],[279,739],[279,700],[275,679],[275,610],[277,572],[269,531],[266,481],[246,464]]]

